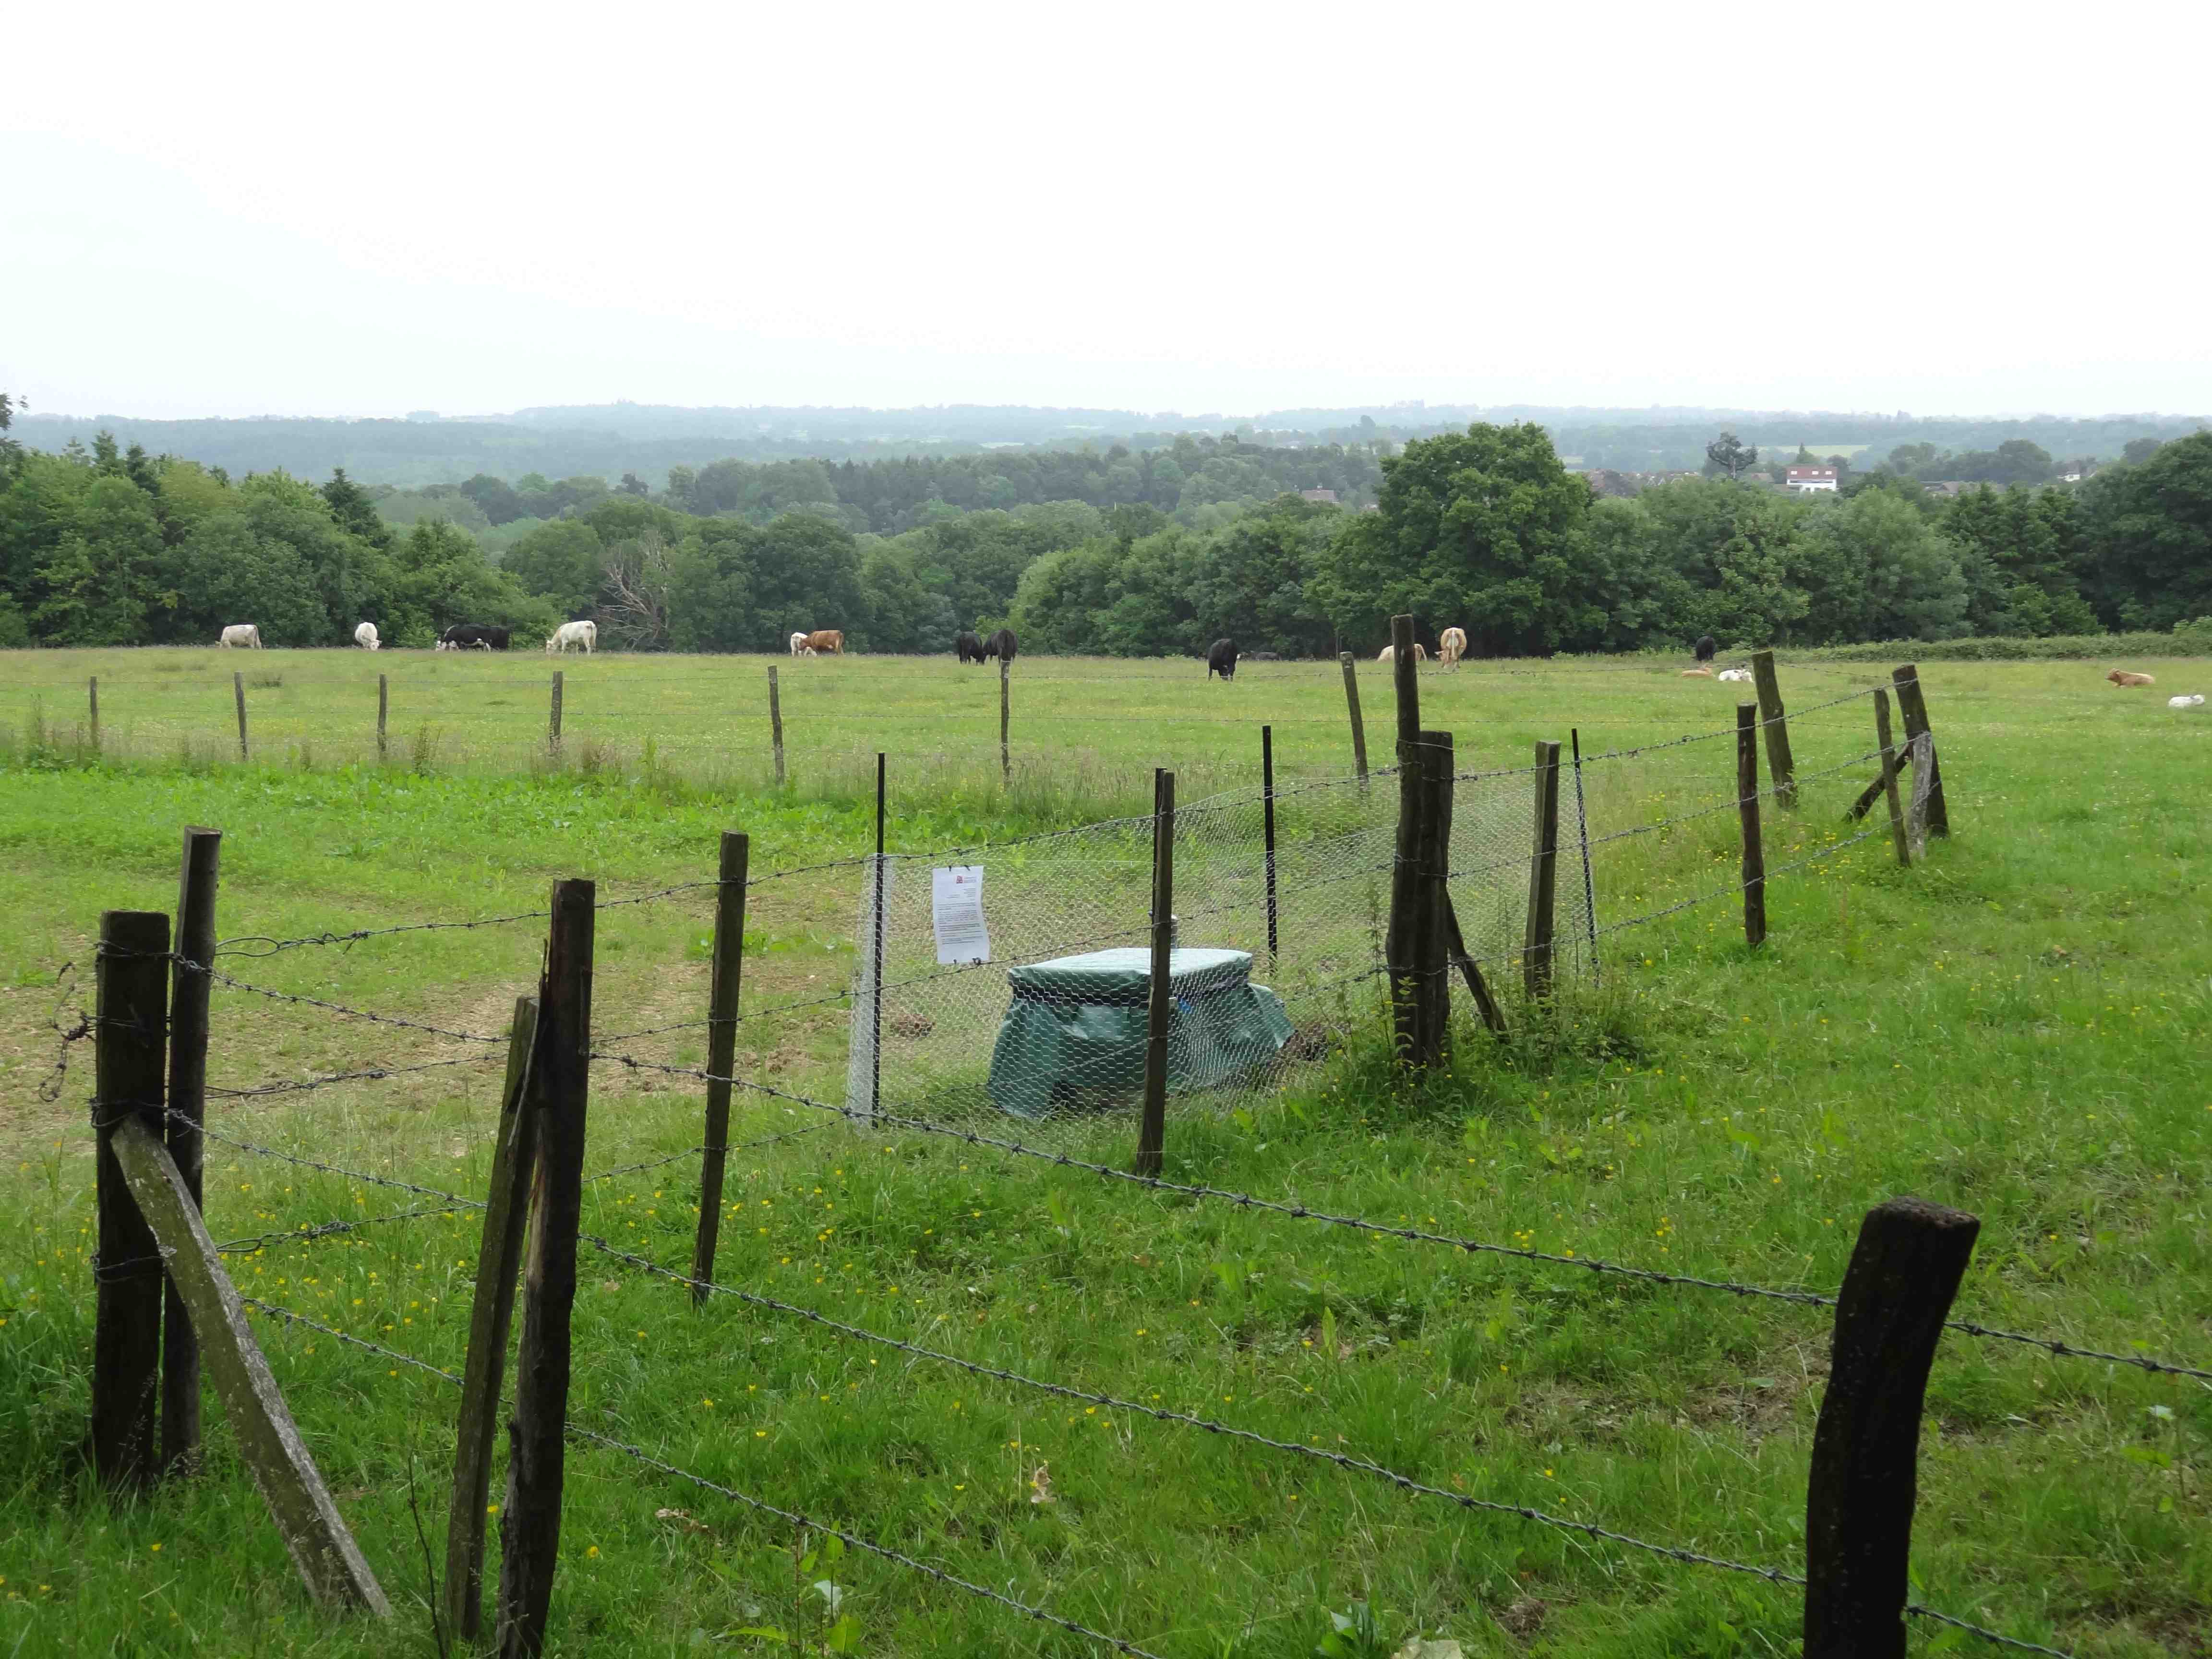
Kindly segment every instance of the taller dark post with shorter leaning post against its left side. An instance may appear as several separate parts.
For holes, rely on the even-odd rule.
[[[524,1263],[507,1509],[500,1513],[500,1659],[546,1644],[568,1416],[568,1314],[584,1201],[584,1106],[591,1093],[591,938],[595,885],[553,883],[553,927],[538,993],[538,1172]]]

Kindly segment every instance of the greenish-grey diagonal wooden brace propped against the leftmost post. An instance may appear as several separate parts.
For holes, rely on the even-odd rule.
[[[319,1601],[392,1617],[392,1604],[361,1559],[345,1517],[299,1438],[276,1378],[246,1323],[246,1305],[223,1272],[215,1239],[199,1219],[199,1203],[186,1190],[168,1148],[142,1119],[126,1117],[115,1126],[108,1150],[142,1225],[161,1241],[177,1298],[206,1343],[223,1420],[261,1489],[261,1502],[270,1506],[292,1566]]]

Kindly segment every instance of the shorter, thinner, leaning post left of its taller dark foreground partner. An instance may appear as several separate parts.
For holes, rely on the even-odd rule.
[[[445,1526],[445,1635],[462,1641],[476,1641],[484,1628],[491,1449],[500,1433],[507,1332],[515,1316],[522,1223],[529,1217],[538,1150],[538,1097],[531,1077],[535,1044],[538,1000],[515,998],[515,1022],[507,1037],[507,1086],[500,1091],[500,1128],[491,1141],[491,1186],[484,1192],[484,1237],[476,1252],[469,1358],[460,1371],[460,1418],[453,1431],[453,1502]]]

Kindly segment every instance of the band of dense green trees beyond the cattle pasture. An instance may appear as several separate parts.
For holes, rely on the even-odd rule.
[[[852,476],[717,462],[664,491],[568,480],[568,500],[504,522],[520,533],[493,562],[449,520],[385,522],[343,471],[232,482],[104,436],[44,453],[9,440],[0,400],[0,644],[206,644],[254,622],[270,644],[327,646],[367,619],[420,646],[453,622],[529,637],[588,615],[635,650],[781,650],[792,630],[843,628],[858,650],[942,653],[1009,624],[1042,653],[1194,655],[1232,637],[1314,657],[1369,653],[1411,611],[1480,655],[1544,655],[2212,615],[2212,434],[2077,489],[1938,500],[1880,469],[1823,498],[1683,478],[1613,500],[1542,427],[1475,422],[1396,456],[1343,449],[1340,493],[1358,500],[1367,478],[1371,511],[1305,500],[1250,451],[1192,438]]]

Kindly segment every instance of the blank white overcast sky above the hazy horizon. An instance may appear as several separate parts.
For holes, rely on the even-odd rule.
[[[0,389],[2208,411],[2212,7],[60,4]]]

